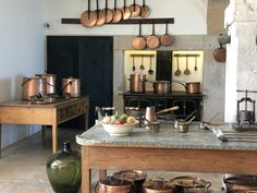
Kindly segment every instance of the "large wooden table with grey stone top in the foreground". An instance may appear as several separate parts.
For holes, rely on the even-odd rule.
[[[257,174],[257,143],[220,142],[210,131],[192,125],[179,133],[172,124],[160,132],[135,129],[130,136],[109,136],[97,124],[76,137],[82,145],[82,193],[90,193],[91,169],[158,170]]]

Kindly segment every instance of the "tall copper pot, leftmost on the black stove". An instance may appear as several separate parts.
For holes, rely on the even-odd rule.
[[[146,92],[146,75],[145,74],[131,74],[130,91],[132,93],[145,93]]]

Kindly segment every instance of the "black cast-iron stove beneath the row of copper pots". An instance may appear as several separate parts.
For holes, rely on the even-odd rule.
[[[172,92],[170,94],[154,94],[146,92],[144,94],[123,93],[124,107],[139,107],[145,109],[148,106],[155,106],[156,111],[179,106],[180,109],[174,111],[176,118],[185,119],[196,110],[195,121],[201,120],[203,112],[203,94],[186,94],[185,92]]]

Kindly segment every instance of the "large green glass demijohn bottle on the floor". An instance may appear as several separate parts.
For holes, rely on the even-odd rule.
[[[82,159],[72,152],[70,142],[47,160],[47,176],[56,193],[77,193],[82,183]]]

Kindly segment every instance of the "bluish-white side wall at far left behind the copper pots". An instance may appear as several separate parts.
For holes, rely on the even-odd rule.
[[[0,101],[21,98],[22,77],[44,72],[44,0],[0,0]],[[2,147],[38,131],[3,125]]]

